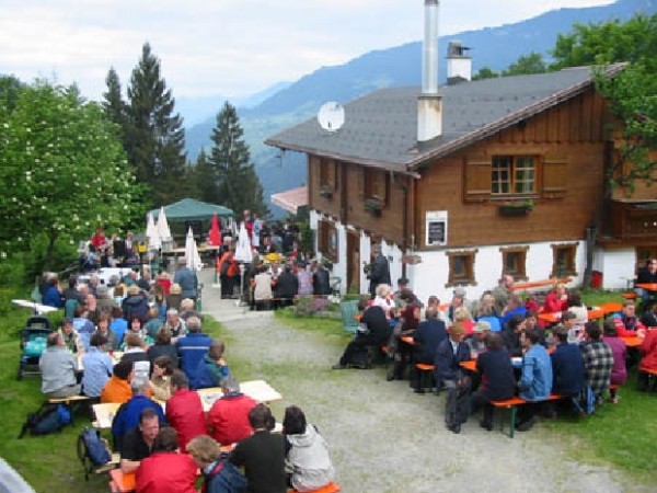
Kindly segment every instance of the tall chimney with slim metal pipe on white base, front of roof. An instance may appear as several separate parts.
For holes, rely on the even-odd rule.
[[[422,94],[417,98],[417,140],[442,134],[442,98],[438,94],[438,0],[425,0]]]

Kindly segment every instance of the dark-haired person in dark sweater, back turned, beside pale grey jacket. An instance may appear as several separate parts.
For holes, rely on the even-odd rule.
[[[249,493],[285,493],[285,442],[283,435],[272,433],[275,425],[272,411],[257,404],[249,412],[253,435],[240,442],[229,460],[244,468]]]

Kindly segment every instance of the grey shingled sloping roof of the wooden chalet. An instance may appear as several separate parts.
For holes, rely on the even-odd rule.
[[[613,74],[623,65],[608,69]],[[593,83],[590,67],[485,79],[440,88],[442,136],[418,146],[419,88],[374,91],[345,105],[337,131],[311,118],[269,137],[265,144],[368,167],[413,172],[522,119],[576,96]]]

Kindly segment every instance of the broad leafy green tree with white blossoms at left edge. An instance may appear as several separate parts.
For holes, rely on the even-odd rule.
[[[0,128],[1,257],[45,241],[48,270],[57,242],[77,246],[96,225],[116,228],[143,214],[115,125],[76,88],[21,89],[13,111],[0,111]]]

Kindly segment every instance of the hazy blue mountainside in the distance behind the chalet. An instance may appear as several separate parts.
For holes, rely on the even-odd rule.
[[[473,73],[482,67],[500,71],[530,51],[540,53],[549,60],[557,34],[569,32],[575,23],[624,21],[637,12],[656,13],[657,0],[618,0],[604,7],[560,9],[516,24],[443,36],[439,41],[439,54],[443,58],[447,44],[460,41],[471,48]],[[422,37],[420,28],[418,26],[418,38]],[[380,88],[419,85],[420,54],[420,42],[370,51],[341,66],[322,67],[293,83],[281,82],[247,100],[231,101],[239,108],[245,140],[265,195],[304,184],[307,171],[304,154],[281,154],[263,144],[267,137],[313,117],[326,101],[346,103]],[[445,80],[443,59],[439,71]],[[224,100],[217,96],[176,101],[177,111],[186,119],[191,160],[195,160],[204,147],[210,146],[216,115]],[[204,111],[207,112],[205,119]],[[194,125],[195,122],[200,123]],[[279,209],[273,208],[273,211],[281,215]]]

